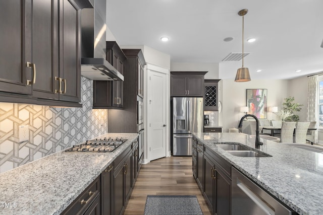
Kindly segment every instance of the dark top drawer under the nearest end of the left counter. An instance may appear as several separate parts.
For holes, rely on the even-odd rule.
[[[62,214],[83,214],[100,195],[100,176],[97,177]]]

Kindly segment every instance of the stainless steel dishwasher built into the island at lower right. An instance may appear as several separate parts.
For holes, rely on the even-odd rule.
[[[232,168],[232,215],[297,214]]]

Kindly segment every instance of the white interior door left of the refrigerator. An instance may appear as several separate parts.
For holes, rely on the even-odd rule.
[[[148,160],[166,157],[166,129],[168,129],[167,111],[167,89],[166,74],[158,71],[148,70],[148,133],[147,151]]]

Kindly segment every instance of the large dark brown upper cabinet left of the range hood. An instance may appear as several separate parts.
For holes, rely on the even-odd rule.
[[[3,1],[0,8],[0,101],[82,106],[78,4]]]

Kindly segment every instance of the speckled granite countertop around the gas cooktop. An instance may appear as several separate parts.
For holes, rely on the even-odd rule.
[[[106,133],[97,138],[128,140],[113,153],[61,151],[0,174],[0,214],[60,214],[137,136]]]

